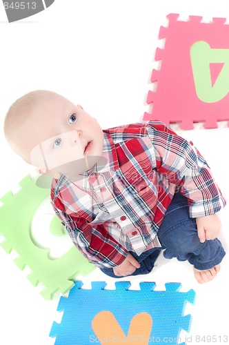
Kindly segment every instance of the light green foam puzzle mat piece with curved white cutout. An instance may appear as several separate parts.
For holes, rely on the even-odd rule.
[[[38,188],[30,176],[25,177],[19,185],[21,190],[15,195],[8,193],[1,198],[0,233],[5,241],[0,245],[6,253],[16,250],[19,256],[14,262],[21,270],[29,266],[32,270],[28,275],[30,282],[34,286],[41,282],[45,286],[41,295],[45,299],[52,299],[57,291],[67,293],[74,286],[71,279],[79,273],[87,275],[94,265],[74,246],[61,257],[50,259],[49,251],[34,243],[31,235],[32,217],[41,202],[49,196],[49,190]],[[60,221],[59,224],[61,227]]]

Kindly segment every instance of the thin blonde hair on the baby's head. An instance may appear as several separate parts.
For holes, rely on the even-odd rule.
[[[31,164],[30,150],[25,150],[28,146],[26,137],[20,133],[20,128],[25,124],[26,120],[30,117],[34,106],[37,101],[47,97],[48,95],[57,95],[55,92],[49,90],[34,90],[23,95],[10,106],[4,121],[4,134],[9,146],[26,161]]]

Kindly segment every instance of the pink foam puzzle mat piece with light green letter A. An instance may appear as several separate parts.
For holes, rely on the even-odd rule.
[[[225,18],[203,23],[199,16],[188,21],[179,21],[179,14],[167,17],[168,28],[159,31],[165,45],[155,53],[161,68],[151,76],[157,86],[147,97],[152,112],[143,119],[181,122],[182,129],[192,129],[195,122],[217,128],[217,121],[229,120],[229,25]]]

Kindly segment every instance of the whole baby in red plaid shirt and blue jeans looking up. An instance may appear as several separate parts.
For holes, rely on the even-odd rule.
[[[150,273],[160,250],[212,280],[226,205],[199,151],[159,121],[102,130],[81,106],[37,90],[6,115],[8,144],[52,177],[50,200],[74,245],[111,277]]]

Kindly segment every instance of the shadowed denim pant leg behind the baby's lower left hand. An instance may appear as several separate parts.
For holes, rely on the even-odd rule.
[[[155,261],[157,260],[157,257],[160,253],[159,248],[152,248],[150,250],[147,250],[146,252],[143,252],[141,255],[137,255],[134,252],[130,252],[133,257],[141,264],[139,268],[135,270],[132,275],[146,275],[151,272],[152,268],[155,266]],[[100,270],[105,273],[106,275],[109,275],[113,278],[122,278],[123,276],[119,277],[115,275],[113,268],[100,268]],[[126,275],[128,277],[128,275]]]

